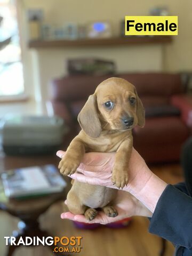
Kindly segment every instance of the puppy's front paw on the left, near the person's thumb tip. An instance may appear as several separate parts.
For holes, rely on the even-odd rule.
[[[76,172],[79,163],[75,162],[74,159],[70,159],[69,157],[64,157],[60,163],[58,168],[60,169],[60,173],[63,175],[71,175]]]

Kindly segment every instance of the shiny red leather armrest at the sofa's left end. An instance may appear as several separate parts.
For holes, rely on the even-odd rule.
[[[73,122],[73,116],[70,115],[66,104],[62,101],[47,101],[46,102],[47,114],[57,115],[63,118],[66,124],[71,124]]]

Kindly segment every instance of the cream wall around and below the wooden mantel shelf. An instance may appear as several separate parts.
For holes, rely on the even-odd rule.
[[[113,59],[117,62],[118,71],[165,70],[177,72],[191,70],[191,0],[18,0],[18,3],[21,7],[20,19],[22,20],[21,28],[24,39],[23,49],[28,92],[31,95],[35,94],[37,100],[41,100],[41,97],[47,97],[47,83],[51,78],[66,74],[65,59],[69,57]],[[39,51],[38,55],[33,50],[27,49],[26,23],[23,14],[28,8],[42,8],[45,14],[45,22],[55,25],[61,25],[68,21],[86,23],[93,20],[108,20],[113,25],[114,35],[117,35],[119,21],[125,15],[148,15],[149,9],[154,6],[167,6],[170,9],[170,15],[179,16],[179,35],[173,36],[173,42],[164,46],[163,63],[157,46],[151,45],[143,47],[103,47],[94,50],[91,48],[73,49],[72,51],[69,49],[52,51],[47,49]],[[159,58],[158,61],[156,61],[157,58]]]

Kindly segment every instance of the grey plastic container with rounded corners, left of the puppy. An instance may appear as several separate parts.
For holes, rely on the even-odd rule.
[[[0,122],[6,154],[53,153],[62,145],[67,127],[58,116],[6,116]]]

